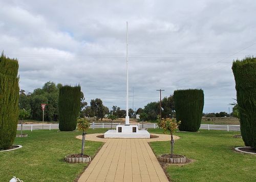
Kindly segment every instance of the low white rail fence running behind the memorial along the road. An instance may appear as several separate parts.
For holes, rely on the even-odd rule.
[[[112,128],[116,128],[116,125],[120,125],[121,123],[113,123]],[[142,128],[142,124],[138,123],[138,128]],[[143,128],[157,128],[158,125],[156,123],[146,123],[143,124]],[[35,129],[58,129],[59,124],[23,124],[23,130],[35,130]],[[90,128],[111,128],[111,123],[91,123]],[[21,124],[18,124],[17,130],[21,129]],[[227,131],[240,131],[240,125],[214,125],[214,124],[201,124],[200,129],[207,130],[227,130]]]

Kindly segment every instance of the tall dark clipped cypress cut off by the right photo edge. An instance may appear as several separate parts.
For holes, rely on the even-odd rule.
[[[256,148],[256,58],[233,62],[240,130],[245,146]]]

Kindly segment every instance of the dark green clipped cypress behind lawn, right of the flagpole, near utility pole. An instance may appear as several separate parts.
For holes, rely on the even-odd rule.
[[[200,128],[204,92],[202,89],[186,89],[174,91],[176,119],[181,121],[180,131],[198,131]]]

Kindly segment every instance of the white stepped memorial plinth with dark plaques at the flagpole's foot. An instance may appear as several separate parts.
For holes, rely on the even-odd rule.
[[[112,139],[150,139],[147,130],[139,130],[137,125],[117,125],[116,130],[108,130],[104,133],[104,138]]]

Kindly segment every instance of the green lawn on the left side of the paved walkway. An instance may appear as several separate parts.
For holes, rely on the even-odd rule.
[[[89,129],[88,133],[102,133],[106,129]],[[57,130],[29,130],[28,138],[16,138],[14,144],[23,148],[0,152],[0,181],[16,176],[24,181],[73,181],[87,164],[69,164],[63,158],[70,153],[80,153],[81,132]],[[86,154],[94,156],[102,142],[86,141]]]

